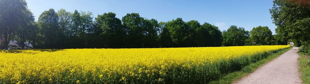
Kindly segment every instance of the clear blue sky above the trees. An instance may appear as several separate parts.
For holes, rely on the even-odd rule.
[[[170,21],[178,17],[184,21],[198,20],[216,25],[221,31],[236,25],[251,30],[268,26],[275,34],[269,9],[273,0],[26,0],[35,19],[49,8],[58,11],[90,11],[98,14],[114,12],[122,19],[127,13],[139,13],[141,17]]]

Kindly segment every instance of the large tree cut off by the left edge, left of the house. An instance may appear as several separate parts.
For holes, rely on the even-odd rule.
[[[27,10],[25,0],[0,0],[1,34],[4,40],[4,49],[8,49],[9,40],[15,34],[19,23],[24,19],[24,11]]]

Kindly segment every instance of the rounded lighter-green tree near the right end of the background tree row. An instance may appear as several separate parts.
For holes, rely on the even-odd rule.
[[[267,26],[258,26],[251,31],[250,38],[254,45],[273,45],[273,35],[271,30]]]

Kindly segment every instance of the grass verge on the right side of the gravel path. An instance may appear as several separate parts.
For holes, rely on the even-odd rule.
[[[299,56],[300,78],[304,84],[310,84],[310,56],[303,52],[299,52]]]

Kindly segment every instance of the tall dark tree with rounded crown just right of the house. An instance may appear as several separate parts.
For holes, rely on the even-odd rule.
[[[62,34],[59,27],[59,17],[54,9],[44,11],[38,19],[38,27],[43,36],[43,47],[41,48],[61,48],[60,35]]]

